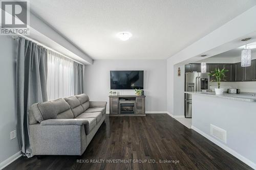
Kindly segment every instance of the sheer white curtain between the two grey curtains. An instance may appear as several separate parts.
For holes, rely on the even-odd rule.
[[[74,95],[74,61],[48,51],[48,101]]]

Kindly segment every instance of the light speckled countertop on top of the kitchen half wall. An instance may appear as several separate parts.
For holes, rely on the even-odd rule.
[[[252,94],[255,94],[255,93],[248,93],[248,92],[241,92],[239,94],[223,93],[221,95],[216,95],[215,92],[185,91],[185,93],[206,95],[206,96],[210,96],[213,98],[222,98],[222,99],[229,99],[229,100],[235,100],[235,101],[256,102],[256,95],[252,96]]]

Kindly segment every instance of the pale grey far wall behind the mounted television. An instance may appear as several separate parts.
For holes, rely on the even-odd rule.
[[[144,70],[146,111],[166,111],[166,60],[95,60],[84,69],[84,86],[91,101],[108,101],[110,70]],[[135,94],[135,90],[117,90]]]

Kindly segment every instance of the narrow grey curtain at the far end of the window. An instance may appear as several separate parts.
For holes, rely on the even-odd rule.
[[[74,62],[74,94],[83,93],[83,71],[82,64]]]

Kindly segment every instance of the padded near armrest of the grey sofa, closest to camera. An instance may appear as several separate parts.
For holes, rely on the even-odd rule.
[[[43,120],[40,125],[48,126],[48,125],[87,125],[89,124],[88,120],[83,118],[70,118],[70,119],[47,119]]]

